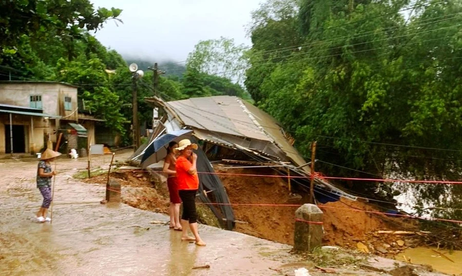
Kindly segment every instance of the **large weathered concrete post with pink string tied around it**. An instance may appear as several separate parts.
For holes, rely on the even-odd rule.
[[[321,246],[322,211],[314,204],[303,204],[295,211],[294,249],[313,251]]]

